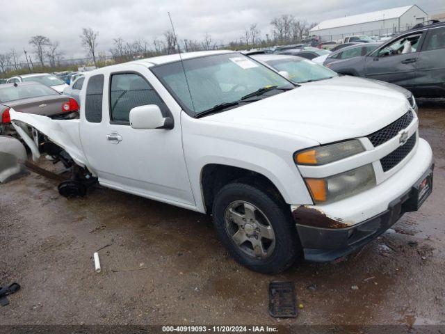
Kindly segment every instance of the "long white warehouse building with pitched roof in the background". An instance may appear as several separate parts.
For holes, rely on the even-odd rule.
[[[411,29],[426,19],[428,14],[412,5],[328,19],[314,26],[309,34],[321,36],[322,40],[343,40],[350,35],[387,35]]]

